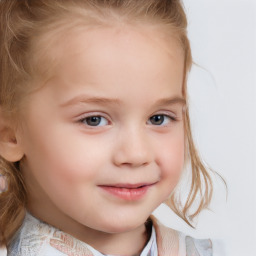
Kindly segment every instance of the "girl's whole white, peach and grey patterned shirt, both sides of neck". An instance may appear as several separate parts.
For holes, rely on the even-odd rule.
[[[153,216],[151,237],[140,256],[212,256],[212,243],[167,228]],[[7,248],[7,256],[114,256],[38,220],[27,213]],[[115,255],[118,256],[118,255]]]

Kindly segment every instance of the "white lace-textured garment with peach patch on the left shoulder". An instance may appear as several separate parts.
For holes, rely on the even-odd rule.
[[[21,228],[7,248],[8,256],[92,255],[87,245],[36,218],[26,214]],[[80,255],[80,254],[79,254]]]

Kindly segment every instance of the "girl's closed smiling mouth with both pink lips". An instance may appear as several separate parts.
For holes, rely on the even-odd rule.
[[[137,201],[142,199],[156,183],[140,183],[140,184],[115,184],[100,185],[108,194],[127,201]]]

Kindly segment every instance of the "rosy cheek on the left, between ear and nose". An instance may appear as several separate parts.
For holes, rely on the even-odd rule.
[[[59,188],[71,189],[97,180],[99,172],[106,168],[110,143],[75,133],[72,128],[53,131],[49,136],[31,135],[33,148],[28,145],[29,169],[39,182],[53,186],[58,183]]]

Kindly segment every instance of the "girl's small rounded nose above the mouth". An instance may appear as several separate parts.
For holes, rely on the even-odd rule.
[[[153,160],[148,135],[140,129],[126,129],[115,139],[113,162],[116,166],[132,168],[146,166]]]

